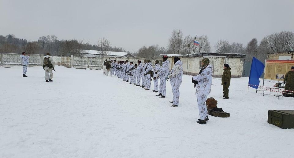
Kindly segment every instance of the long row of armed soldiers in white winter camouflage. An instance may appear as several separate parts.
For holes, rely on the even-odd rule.
[[[160,98],[166,97],[166,81],[170,81],[172,92],[173,92],[173,107],[177,107],[179,105],[180,98],[180,85],[182,83],[183,77],[183,67],[182,61],[179,57],[175,57],[173,62],[174,66],[172,70],[169,72],[169,61],[167,60],[167,56],[163,56],[162,66],[159,65],[159,61],[156,60],[154,68],[152,68],[150,60],[144,60],[141,63],[138,60],[137,64],[133,62],[126,61],[110,61],[112,72],[114,75],[121,78],[123,81],[129,82],[129,84],[135,84],[136,86],[140,86],[141,82],[142,88],[146,90],[150,90],[151,81],[154,82],[154,90],[153,92],[159,92],[158,95]],[[211,91],[211,83],[212,83],[212,70],[213,66],[209,64],[209,59],[204,58],[202,60],[202,69],[199,74],[192,77],[192,83],[196,88],[196,98],[198,103],[199,115],[197,123],[206,124],[208,119],[208,112],[205,101],[207,96]],[[228,68],[228,65],[224,65],[224,68]],[[227,70],[227,69],[225,69]],[[226,76],[226,75],[225,75]],[[158,90],[158,80],[160,81],[159,90]],[[223,81],[224,86],[228,87],[228,83]],[[227,94],[224,92],[225,99]]]

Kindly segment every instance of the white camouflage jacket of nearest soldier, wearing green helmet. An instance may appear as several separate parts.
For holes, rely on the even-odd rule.
[[[196,95],[209,95],[212,83],[212,65],[208,65],[202,70],[202,73],[193,76],[193,80],[198,81]]]

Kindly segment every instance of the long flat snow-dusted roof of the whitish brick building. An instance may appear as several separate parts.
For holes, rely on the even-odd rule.
[[[245,54],[240,53],[195,53],[195,54],[160,54],[159,56],[168,57],[195,57],[195,56],[229,56],[229,57],[245,57]]]

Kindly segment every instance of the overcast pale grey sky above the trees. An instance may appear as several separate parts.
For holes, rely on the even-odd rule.
[[[83,39],[136,51],[167,47],[173,29],[247,44],[252,38],[294,31],[294,0],[0,0],[0,34],[35,41],[40,36]]]

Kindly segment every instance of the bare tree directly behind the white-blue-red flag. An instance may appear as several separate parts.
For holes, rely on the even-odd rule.
[[[194,45],[194,41],[193,41],[193,52],[194,53],[210,53],[211,52],[211,46],[210,46],[210,42],[208,40],[207,35],[201,35],[198,36],[196,35],[196,40],[199,41],[199,46],[198,49],[195,47]]]

